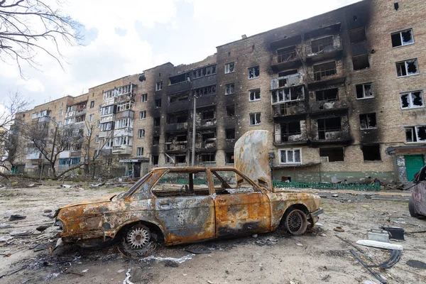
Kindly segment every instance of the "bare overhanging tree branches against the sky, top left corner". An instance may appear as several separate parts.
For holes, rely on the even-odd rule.
[[[60,1],[56,1],[62,6]],[[40,51],[62,67],[60,43],[75,45],[82,37],[80,23],[40,0],[0,0],[0,60],[14,61],[24,77],[21,64],[37,69],[35,55]],[[51,48],[53,46],[53,48]]]

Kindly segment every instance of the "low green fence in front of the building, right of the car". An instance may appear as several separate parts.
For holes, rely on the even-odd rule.
[[[380,183],[325,183],[325,182],[283,182],[273,180],[275,188],[315,188],[317,190],[362,190],[380,191]]]

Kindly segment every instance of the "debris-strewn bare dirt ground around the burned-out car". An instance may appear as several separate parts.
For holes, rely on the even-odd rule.
[[[0,283],[378,283],[349,249],[357,251],[369,264],[386,261],[388,251],[358,246],[356,241],[366,239],[367,229],[378,229],[381,225],[401,226],[408,233],[426,230],[425,219],[410,217],[408,213],[410,192],[377,195],[307,190],[323,197],[324,214],[320,216],[322,226],[303,236],[276,231],[209,241],[201,246],[211,253],[197,255],[185,251],[190,245],[157,246],[151,258],[143,259],[128,259],[116,246],[102,250],[61,246],[50,253],[48,246],[55,246],[53,236],[58,226],[41,234],[35,231],[40,224],[53,223],[43,216],[45,209],[55,211],[70,202],[126,190],[87,185],[62,188],[53,183],[2,189],[0,186],[0,238],[10,237],[11,232],[31,234],[0,242]],[[339,197],[332,197],[334,194]],[[400,200],[375,200],[388,196],[398,196]],[[11,214],[23,214],[26,219],[10,222]],[[334,231],[336,226],[345,231]],[[426,260],[425,237],[425,233],[413,233],[405,234],[405,241],[391,241],[404,247],[403,255],[392,268],[376,271],[388,283],[426,283],[426,270],[406,264],[408,260]],[[161,258],[182,258],[183,262]]]

